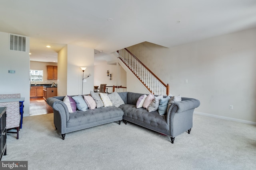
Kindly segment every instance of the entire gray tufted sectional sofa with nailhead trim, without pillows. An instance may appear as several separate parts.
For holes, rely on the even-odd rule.
[[[74,113],[69,113],[66,104],[62,102],[65,96],[48,98],[47,103],[54,111],[54,125],[62,134],[62,139],[66,133],[72,131],[113,121],[119,121],[120,124],[123,119],[125,124],[129,121],[167,135],[170,137],[171,143],[174,143],[174,138],[177,135],[185,131],[190,133],[194,109],[200,105],[199,100],[182,98],[181,102],[172,103],[167,114],[160,115],[158,111],[149,113],[147,109],[136,108],[138,98],[144,94],[133,92],[120,92],[118,94],[124,101],[124,104],[119,107],[100,107],[95,110],[76,111]]]

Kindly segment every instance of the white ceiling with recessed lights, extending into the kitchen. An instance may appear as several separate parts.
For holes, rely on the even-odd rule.
[[[173,47],[256,27],[256,0],[4,0],[0,16],[0,31],[30,37],[32,61],[57,61],[66,44],[104,59],[144,41]]]

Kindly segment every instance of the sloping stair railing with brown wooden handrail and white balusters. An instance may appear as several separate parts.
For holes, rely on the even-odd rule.
[[[169,84],[165,84],[126,48],[118,51],[119,59],[133,72],[144,86],[155,95],[169,96]]]

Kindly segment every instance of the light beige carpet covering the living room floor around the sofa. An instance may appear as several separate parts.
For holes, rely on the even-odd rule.
[[[29,170],[254,170],[256,126],[194,114],[190,134],[174,144],[164,135],[123,122],[67,133],[53,114],[24,117],[20,139],[7,135],[2,160],[27,160]]]

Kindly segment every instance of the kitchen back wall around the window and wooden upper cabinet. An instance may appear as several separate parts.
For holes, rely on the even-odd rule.
[[[49,66],[57,66],[58,63],[48,63],[48,62],[38,62],[38,61],[30,61],[30,70],[43,70],[43,81],[42,82],[36,82],[36,84],[52,84],[52,82],[58,83],[57,80],[48,80],[47,79],[47,67]],[[31,82],[32,84],[34,82]]]

